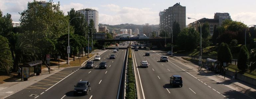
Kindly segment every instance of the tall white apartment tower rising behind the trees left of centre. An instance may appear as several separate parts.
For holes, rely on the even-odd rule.
[[[78,10],[77,12],[80,12],[85,16],[85,19],[88,22],[88,24],[90,23],[90,19],[93,19],[96,32],[99,32],[99,12],[97,10],[86,8]]]

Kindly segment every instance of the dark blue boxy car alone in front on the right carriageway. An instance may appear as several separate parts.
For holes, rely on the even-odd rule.
[[[174,86],[174,85],[179,85],[179,86],[182,87],[182,85],[183,85],[182,77],[181,77],[180,75],[172,75],[172,76],[170,77],[170,84],[171,84],[172,86]]]

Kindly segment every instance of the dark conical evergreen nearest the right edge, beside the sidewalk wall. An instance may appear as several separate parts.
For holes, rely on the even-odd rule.
[[[248,66],[249,66],[249,52],[247,48],[243,45],[238,54],[237,68],[245,72],[248,69]]]

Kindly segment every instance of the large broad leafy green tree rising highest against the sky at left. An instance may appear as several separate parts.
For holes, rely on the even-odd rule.
[[[69,16],[64,16],[60,10],[60,2],[55,4],[50,0],[44,7],[34,0],[28,5],[28,10],[20,13],[22,30],[42,32],[50,39],[57,39],[68,33]]]

